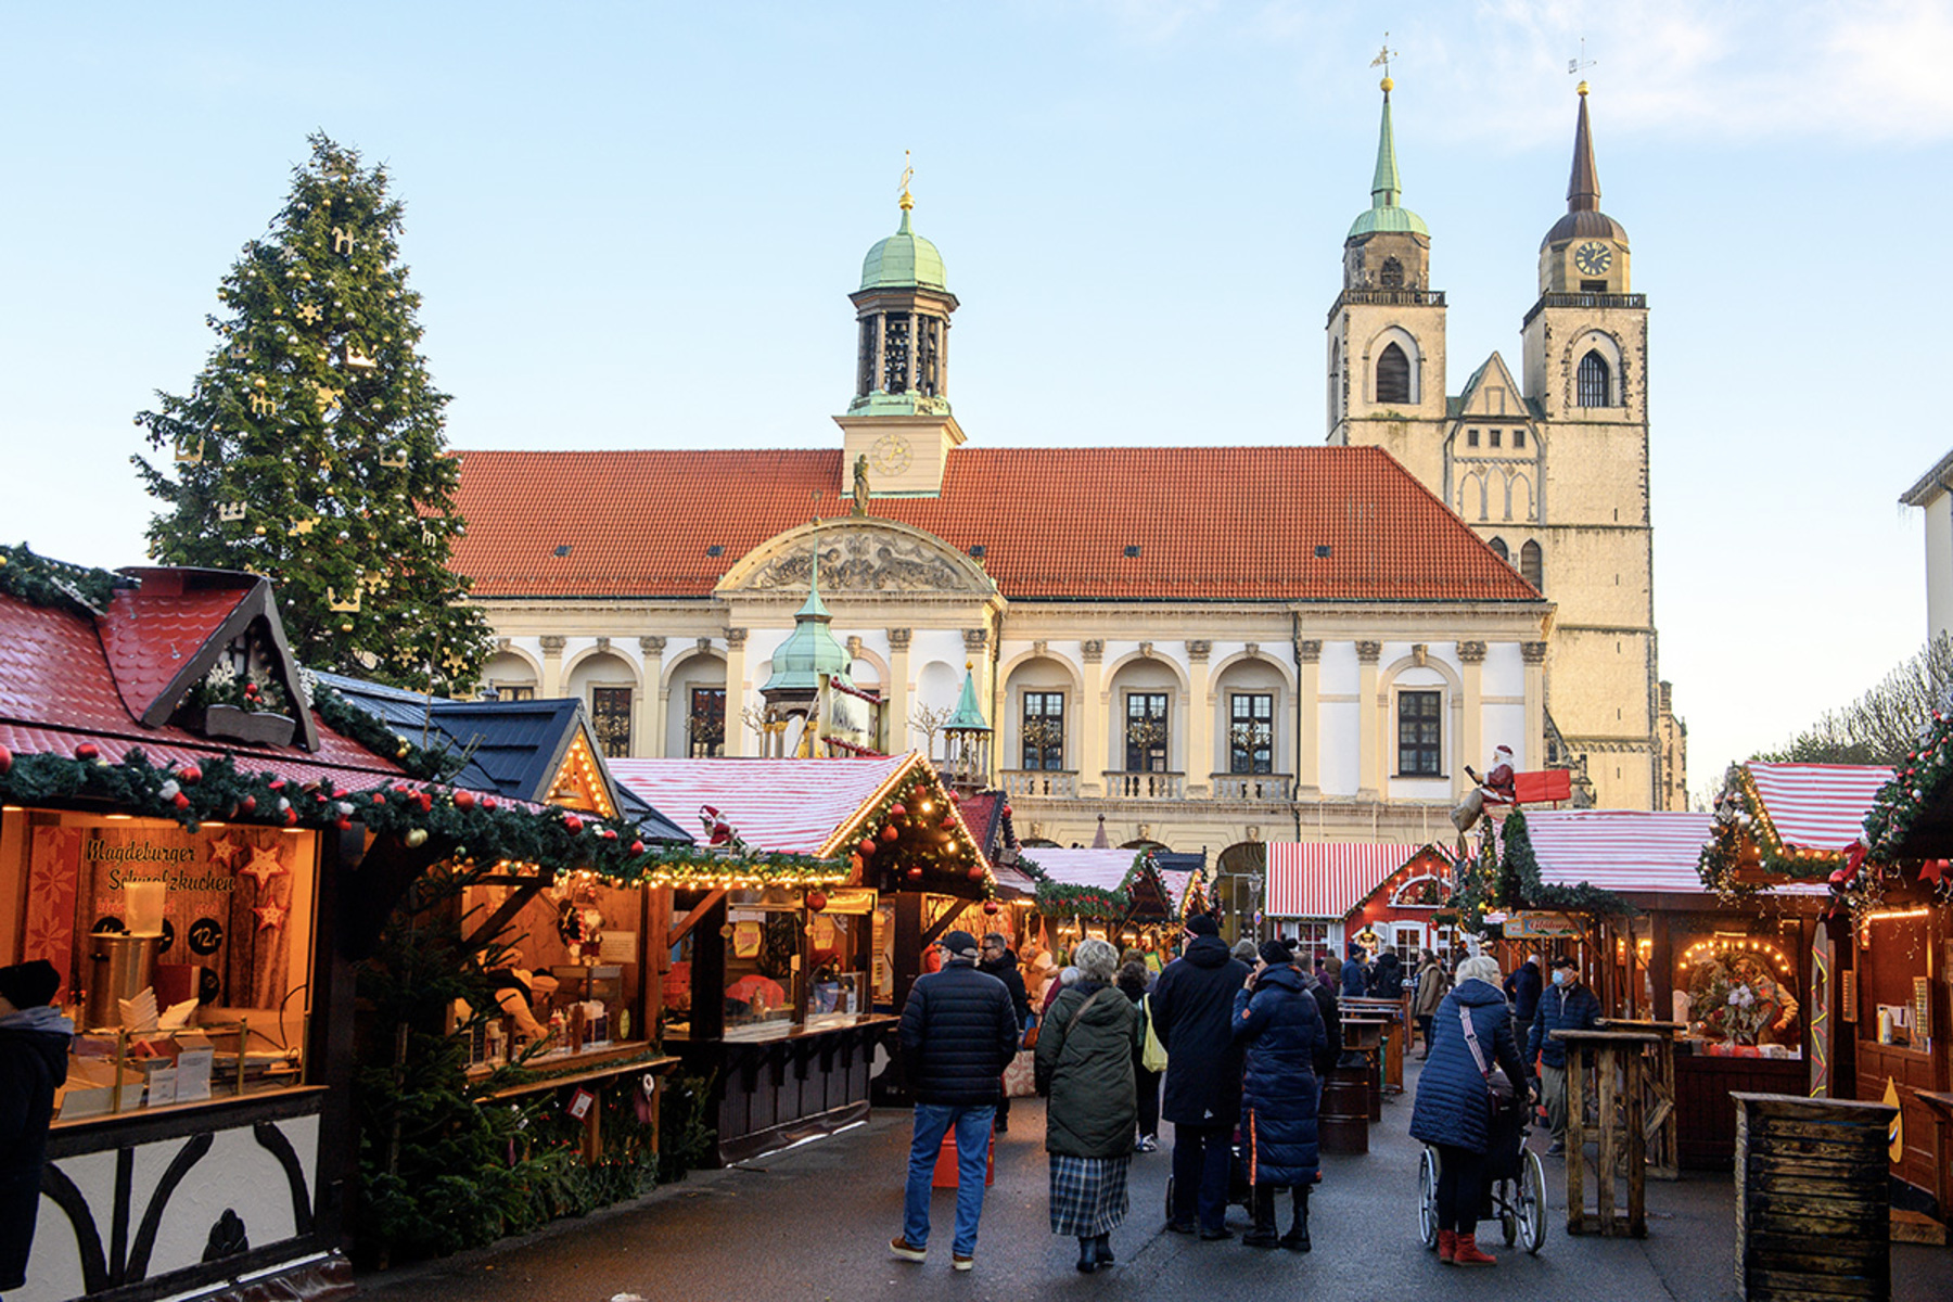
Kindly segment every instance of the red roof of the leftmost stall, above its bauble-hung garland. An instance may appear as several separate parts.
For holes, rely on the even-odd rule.
[[[232,605],[238,595],[232,593]],[[193,611],[197,613],[186,621],[187,625],[203,617],[203,605],[195,603]],[[348,783],[352,779],[346,771],[359,771],[373,781],[400,775],[391,759],[322,724],[318,752],[242,742],[213,744],[184,728],[143,726],[117,691],[115,673],[109,670],[109,646],[117,646],[135,675],[148,681],[160,671],[154,666],[168,664],[170,658],[168,646],[137,646],[146,640],[141,629],[178,629],[178,625],[148,621],[131,631],[119,627],[125,619],[121,601],[100,621],[88,621],[0,595],[0,742],[8,750],[21,755],[39,752],[74,755],[82,742],[94,742],[107,759],[119,759],[129,750],[141,748],[154,763],[189,757],[201,761],[229,753],[242,769],[271,769],[307,781],[332,773],[336,781]],[[186,642],[180,650],[187,660],[199,648],[201,642]]]

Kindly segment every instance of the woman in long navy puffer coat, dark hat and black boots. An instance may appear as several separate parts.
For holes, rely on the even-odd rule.
[[[1234,1038],[1246,1048],[1240,1132],[1254,1183],[1248,1247],[1309,1251],[1309,1189],[1316,1181],[1316,1056],[1328,1033],[1314,992],[1285,941],[1266,941],[1262,962],[1234,996]],[[1275,1189],[1295,1197],[1295,1224],[1275,1238]]]

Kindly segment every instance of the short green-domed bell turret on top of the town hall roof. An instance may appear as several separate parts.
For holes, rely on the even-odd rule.
[[[867,457],[873,496],[934,496],[943,486],[949,449],[963,429],[949,412],[949,314],[957,297],[943,256],[914,232],[916,201],[902,174],[902,224],[861,262],[855,305],[855,394],[846,416],[840,494],[853,492],[855,463]]]

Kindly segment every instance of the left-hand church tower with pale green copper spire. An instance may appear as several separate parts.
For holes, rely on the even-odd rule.
[[[1383,447],[1437,484],[1445,420],[1445,295],[1432,289],[1432,232],[1400,199],[1391,78],[1369,207],[1344,240],[1344,283],[1328,322],[1328,441]]]

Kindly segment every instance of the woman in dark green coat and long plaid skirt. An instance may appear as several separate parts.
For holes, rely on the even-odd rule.
[[[1139,1099],[1133,1058],[1141,1019],[1113,984],[1119,951],[1080,941],[1078,980],[1064,988],[1037,1033],[1037,1093],[1049,1095],[1051,1232],[1078,1240],[1078,1269],[1111,1265],[1111,1232],[1125,1220],[1127,1163]]]

